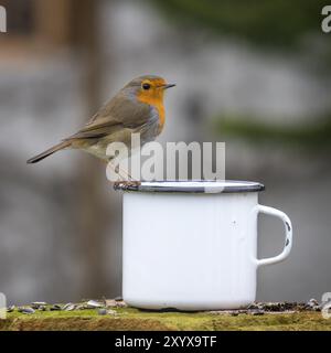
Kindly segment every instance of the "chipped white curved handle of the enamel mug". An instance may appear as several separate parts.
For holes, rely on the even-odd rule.
[[[257,205],[256,211],[257,211],[257,214],[265,213],[265,214],[269,214],[271,216],[276,216],[280,218],[285,226],[285,245],[284,245],[282,252],[279,255],[274,257],[256,259],[257,266],[273,265],[273,264],[277,264],[285,260],[289,256],[289,253],[292,247],[292,225],[291,225],[290,218],[284,212],[276,210],[274,207]]]

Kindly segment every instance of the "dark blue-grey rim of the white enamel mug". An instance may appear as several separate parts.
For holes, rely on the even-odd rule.
[[[265,185],[259,182],[239,180],[167,180],[140,183],[119,182],[114,184],[114,189],[134,192],[241,193],[264,191]]]

